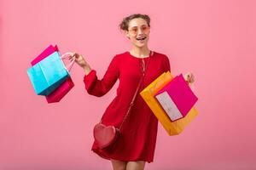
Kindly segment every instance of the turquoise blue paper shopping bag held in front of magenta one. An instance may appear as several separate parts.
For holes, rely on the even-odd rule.
[[[44,96],[52,93],[70,77],[58,52],[33,65],[27,70],[27,74],[36,94]]]

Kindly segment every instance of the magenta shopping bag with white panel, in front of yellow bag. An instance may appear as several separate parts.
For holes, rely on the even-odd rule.
[[[164,88],[160,89],[155,94],[155,98],[172,122],[186,116],[198,100],[182,74],[173,78]]]

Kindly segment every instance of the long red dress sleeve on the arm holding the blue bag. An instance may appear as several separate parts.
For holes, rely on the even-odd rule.
[[[108,70],[101,80],[96,76],[95,70],[91,70],[88,75],[84,76],[85,89],[88,94],[101,97],[108,93],[118,78],[119,66],[116,57],[113,57],[110,65],[108,65]]]

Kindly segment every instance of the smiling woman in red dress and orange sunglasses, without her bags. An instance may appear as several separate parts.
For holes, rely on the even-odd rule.
[[[171,71],[168,57],[148,48],[150,33],[148,15],[131,14],[122,20],[119,27],[130,39],[132,48],[113,57],[101,80],[96,77],[96,71],[91,69],[82,55],[73,54],[76,63],[84,69],[84,84],[88,94],[98,97],[107,94],[119,79],[117,95],[102,116],[103,124],[115,127],[119,127],[123,121],[137,89],[142,76],[141,63],[147,65],[147,70],[139,92],[164,71]],[[187,82],[194,82],[194,76],[191,73],[187,73],[185,79]],[[144,169],[145,162],[152,162],[154,158],[157,126],[157,118],[138,94],[135,105],[125,119],[121,135],[114,146],[101,150],[94,142],[91,150],[110,160],[113,170]]]

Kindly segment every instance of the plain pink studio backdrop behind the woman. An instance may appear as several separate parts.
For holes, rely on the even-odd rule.
[[[92,128],[115,95],[75,87],[57,104],[37,96],[26,69],[49,44],[83,54],[98,77],[131,48],[119,31],[128,14],[149,14],[149,48],[172,74],[191,71],[200,115],[179,136],[159,126],[146,169],[255,169],[256,3],[253,0],[0,1],[0,169],[111,169],[90,147]],[[253,11],[254,10],[254,11]]]

